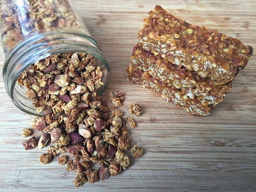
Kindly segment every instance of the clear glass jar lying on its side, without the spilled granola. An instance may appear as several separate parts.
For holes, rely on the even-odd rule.
[[[94,56],[104,83],[97,94],[104,92],[110,66],[70,0],[2,0],[0,15],[5,89],[22,111],[42,116],[17,79],[30,65],[52,54],[84,52]]]

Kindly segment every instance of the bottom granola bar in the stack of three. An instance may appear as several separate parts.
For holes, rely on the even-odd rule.
[[[191,99],[186,94],[182,93],[180,89],[174,86],[167,86],[157,81],[153,76],[143,76],[144,73],[138,71],[136,68],[129,67],[127,69],[127,78],[133,84],[140,84],[143,88],[152,89],[168,102],[173,101],[175,104],[183,106],[184,110],[190,114],[205,116],[208,115],[210,110],[215,106],[215,104],[205,105],[197,99]]]

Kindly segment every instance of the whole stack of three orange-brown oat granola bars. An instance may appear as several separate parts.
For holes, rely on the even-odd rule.
[[[191,25],[156,5],[138,32],[127,78],[194,115],[205,116],[230,91],[252,47]]]

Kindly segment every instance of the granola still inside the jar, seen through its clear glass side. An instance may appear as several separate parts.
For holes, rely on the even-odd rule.
[[[50,28],[76,28],[82,22],[68,0],[2,0],[0,28],[4,52],[11,50],[25,36]]]

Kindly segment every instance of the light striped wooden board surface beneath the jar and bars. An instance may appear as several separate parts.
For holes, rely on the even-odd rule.
[[[21,132],[30,128],[30,116],[8,98],[1,71],[0,191],[255,191],[256,54],[237,75],[226,100],[205,117],[191,116],[151,90],[130,84],[125,68],[142,20],[156,4],[188,22],[239,38],[256,51],[256,1],[73,2],[111,64],[105,96],[109,90],[125,92],[121,109],[126,115],[133,101],[143,109],[135,118],[138,127],[129,132],[131,146],[137,143],[144,154],[131,158],[131,166],[118,176],[74,188],[75,173],[58,165],[57,158],[38,163],[48,147],[24,150]],[[0,60],[2,70],[1,55]]]

